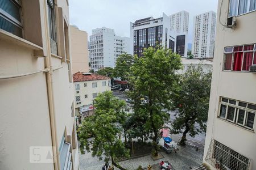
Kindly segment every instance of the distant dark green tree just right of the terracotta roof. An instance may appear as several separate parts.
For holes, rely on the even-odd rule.
[[[133,56],[123,53],[117,58],[115,63],[115,77],[120,77],[122,80],[127,80],[131,74],[130,67],[133,65]]]

